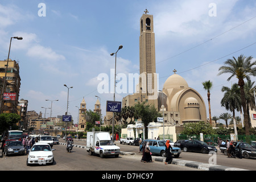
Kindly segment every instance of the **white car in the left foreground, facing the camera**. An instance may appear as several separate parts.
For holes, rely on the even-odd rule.
[[[51,146],[47,143],[35,143],[27,156],[27,166],[30,164],[53,164],[54,156]]]

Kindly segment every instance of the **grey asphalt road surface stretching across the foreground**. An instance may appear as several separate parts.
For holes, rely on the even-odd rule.
[[[52,154],[47,154],[46,157],[52,158],[49,160],[49,164],[46,163],[45,159],[40,158],[35,160],[35,155],[32,155],[32,152],[35,152],[35,147],[38,147],[39,143],[36,143],[34,148],[31,148],[31,154],[13,154],[5,155],[3,152],[0,163],[1,171],[15,171],[19,170],[76,170],[76,171],[86,171],[86,170],[104,170],[104,171],[130,171],[130,170],[139,170],[139,171],[150,171],[152,168],[159,171],[190,171],[190,170],[199,170],[191,167],[179,166],[175,164],[164,165],[163,161],[159,162],[160,158],[165,159],[160,154],[152,154],[154,162],[150,164],[141,163],[142,152],[139,152],[140,146],[134,146],[133,144],[121,144],[119,141],[115,141],[115,146],[120,148],[120,155],[116,156],[105,156],[101,158],[98,154],[89,155],[86,151],[86,140],[73,140],[73,149],[71,152],[67,152],[64,139],[59,139],[59,144],[54,144],[52,150],[47,149],[48,152]],[[48,145],[48,144],[45,144]],[[42,145],[40,147],[43,147]],[[49,146],[50,147],[50,146]],[[38,149],[36,149],[38,150]],[[43,152],[43,149],[40,149]],[[215,155],[216,154],[216,155]],[[246,169],[246,170],[255,170],[256,169],[256,158],[249,159],[238,159],[238,158],[228,158],[225,154],[218,150],[215,154],[202,154],[201,152],[184,152],[181,150],[180,155],[175,158],[177,160],[186,160],[199,163],[215,163],[218,166],[228,166],[232,168]],[[43,155],[41,155],[43,156]],[[54,156],[54,157],[53,157]],[[34,158],[38,164],[31,164],[27,161],[28,158]],[[156,160],[158,159],[158,160]],[[39,161],[40,160],[40,161]],[[31,160],[32,161],[32,160]],[[85,165],[86,164],[86,165]],[[89,164],[89,165],[88,165]],[[157,167],[157,168],[156,168]]]

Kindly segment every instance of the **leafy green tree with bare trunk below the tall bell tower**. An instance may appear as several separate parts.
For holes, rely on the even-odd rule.
[[[156,121],[157,117],[161,117],[161,114],[158,112],[158,110],[155,108],[154,105],[146,105],[146,102],[140,103],[134,105],[135,109],[135,117],[141,118],[142,123],[144,124],[144,135],[145,139],[147,138],[147,126],[150,122]]]

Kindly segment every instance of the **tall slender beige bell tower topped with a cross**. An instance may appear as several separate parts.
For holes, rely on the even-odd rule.
[[[144,11],[141,17],[141,33],[139,36],[139,74],[146,76],[140,78],[139,92],[152,96],[154,91],[157,92],[155,76],[155,33],[153,15]]]

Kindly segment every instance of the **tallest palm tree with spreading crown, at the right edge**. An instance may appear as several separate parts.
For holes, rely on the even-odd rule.
[[[241,94],[241,104],[243,107],[243,118],[245,122],[245,135],[250,135],[250,123],[249,123],[249,114],[247,113],[246,100],[245,100],[245,90],[243,86],[245,85],[244,79],[250,80],[250,76],[256,76],[256,68],[253,67],[256,65],[256,61],[251,63],[253,57],[245,57],[240,55],[238,59],[233,56],[233,59],[228,59],[225,61],[225,66],[222,66],[218,69],[220,71],[218,75],[223,73],[230,73],[231,76],[228,78],[228,81],[236,76],[238,78],[238,85],[240,86]]]

